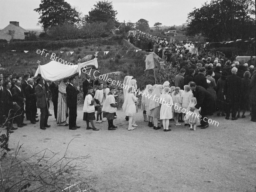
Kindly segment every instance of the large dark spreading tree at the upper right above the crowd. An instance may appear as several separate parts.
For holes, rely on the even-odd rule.
[[[255,36],[255,4],[252,0],[212,0],[188,14],[186,35],[201,34],[208,41]]]

